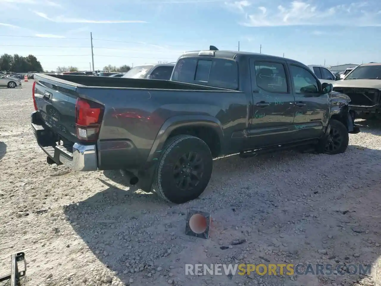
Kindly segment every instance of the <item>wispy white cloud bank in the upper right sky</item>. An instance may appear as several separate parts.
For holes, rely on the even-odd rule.
[[[226,2],[228,8],[236,6],[245,17],[240,22],[243,26],[269,27],[269,26],[301,26],[301,25],[351,25],[351,26],[381,26],[381,18],[377,15],[378,2],[369,5],[367,2],[350,3],[328,6],[314,4],[311,1],[281,0],[278,6],[253,6],[246,0]],[[317,3],[317,2],[316,2]]]

